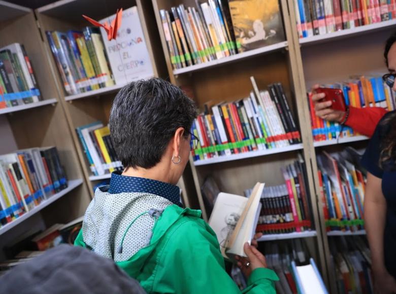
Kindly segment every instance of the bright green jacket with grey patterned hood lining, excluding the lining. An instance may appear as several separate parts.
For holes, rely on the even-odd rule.
[[[148,293],[241,293],[224,270],[215,233],[200,210],[168,206],[158,218],[150,245],[127,261],[116,262]],[[75,245],[85,247],[80,231]],[[276,293],[270,269],[252,272],[242,293]]]

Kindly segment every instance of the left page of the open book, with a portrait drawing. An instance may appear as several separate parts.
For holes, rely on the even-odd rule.
[[[227,239],[233,234],[247,201],[248,198],[234,194],[219,193],[217,196],[209,226],[216,233],[222,251]]]

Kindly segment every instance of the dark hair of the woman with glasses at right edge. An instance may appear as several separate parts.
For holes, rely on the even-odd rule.
[[[384,57],[386,66],[388,64],[388,53],[390,47],[396,44],[396,31],[394,31],[385,43]],[[390,125],[389,133],[385,136],[382,142],[381,154],[380,154],[380,166],[383,166],[384,162],[396,163],[396,113],[389,115],[384,119],[383,124]]]

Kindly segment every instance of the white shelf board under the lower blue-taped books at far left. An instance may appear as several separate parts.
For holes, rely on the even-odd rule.
[[[52,195],[50,198],[43,200],[38,206],[34,207],[33,209],[29,210],[28,212],[25,212],[24,214],[22,214],[22,216],[16,218],[15,220],[13,220],[11,223],[3,226],[0,228],[0,235],[6,233],[7,231],[11,230],[12,228],[14,228],[15,226],[19,225],[20,223],[24,222],[24,220],[26,220],[27,218],[29,218],[30,216],[32,216],[33,214],[36,214],[37,212],[39,212],[40,210],[42,210],[43,208],[47,207],[48,205],[50,205],[51,203],[55,202],[56,200],[58,200],[59,198],[61,198],[62,196],[64,196],[65,194],[68,194],[70,191],[74,190],[75,188],[77,188],[78,186],[80,186],[82,184],[83,180],[82,179],[72,179],[69,180],[68,182],[68,188],[63,189],[62,191],[60,191],[59,193],[56,193],[55,195]]]

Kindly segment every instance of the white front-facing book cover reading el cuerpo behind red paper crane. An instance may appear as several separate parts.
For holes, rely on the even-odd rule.
[[[114,18],[115,14],[100,22],[111,23]],[[121,26],[116,40],[109,41],[104,28],[101,28],[101,32],[117,85],[154,77],[153,65],[136,6],[122,12]]]

